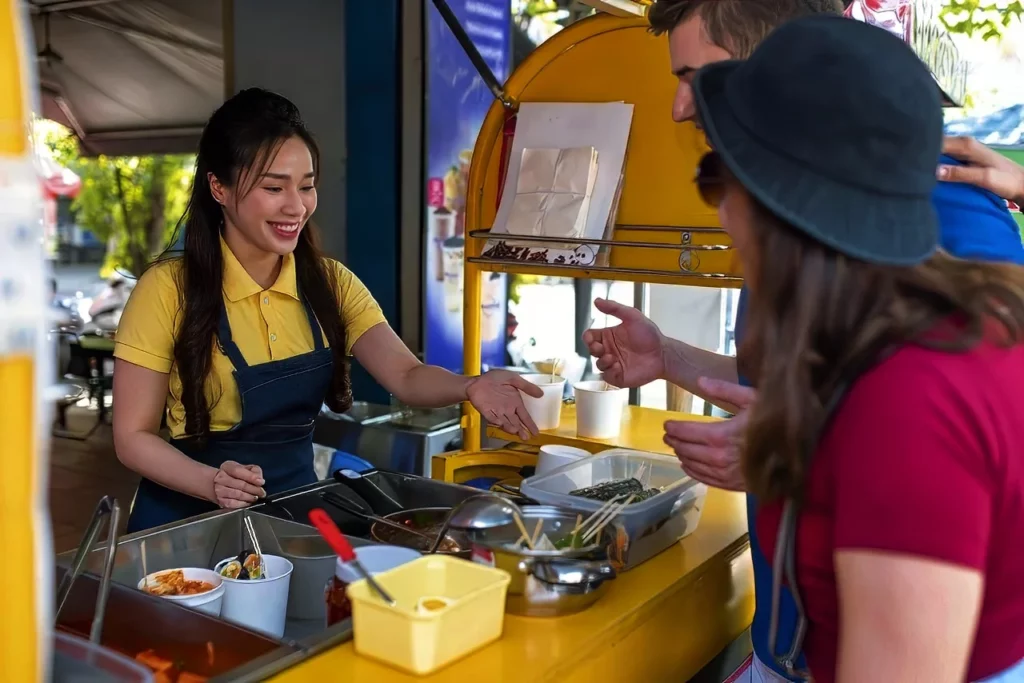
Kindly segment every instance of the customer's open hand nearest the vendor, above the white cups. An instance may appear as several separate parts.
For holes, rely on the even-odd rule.
[[[604,381],[616,387],[638,387],[665,373],[664,337],[654,323],[632,306],[607,299],[596,299],[602,313],[622,321],[613,328],[596,328],[583,333],[590,354],[597,358],[597,369]]]

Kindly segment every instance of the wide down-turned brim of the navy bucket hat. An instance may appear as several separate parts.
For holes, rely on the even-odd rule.
[[[931,197],[880,195],[838,182],[765,145],[726,95],[742,63],[705,67],[693,92],[709,143],[743,187],[780,219],[841,254],[880,265],[927,260],[938,247]]]

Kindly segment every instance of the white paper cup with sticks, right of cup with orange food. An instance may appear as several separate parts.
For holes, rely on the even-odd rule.
[[[226,558],[217,563],[227,562]],[[284,557],[264,555],[263,563],[269,579],[239,581],[221,577],[224,582],[224,606],[220,616],[247,629],[273,638],[285,635],[288,615],[288,591],[292,582],[292,563]]]

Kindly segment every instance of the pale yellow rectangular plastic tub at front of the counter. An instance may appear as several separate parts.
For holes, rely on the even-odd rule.
[[[397,604],[365,580],[349,585],[358,654],[425,675],[502,635],[510,577],[501,569],[427,555],[375,579]]]

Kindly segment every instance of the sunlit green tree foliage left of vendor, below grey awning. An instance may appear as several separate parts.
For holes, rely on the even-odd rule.
[[[167,247],[188,200],[195,157],[82,157],[71,131],[42,126],[54,161],[82,178],[76,222],[111,245],[106,267],[138,275]]]

